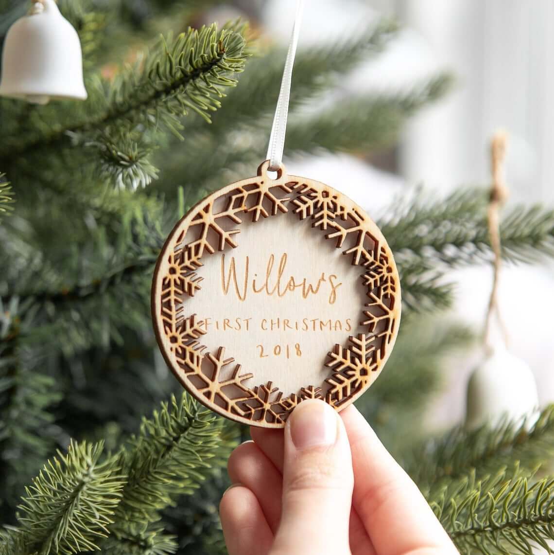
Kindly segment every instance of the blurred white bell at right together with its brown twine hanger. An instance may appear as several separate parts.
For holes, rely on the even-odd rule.
[[[494,252],[494,281],[485,323],[485,350],[481,364],[472,372],[467,384],[466,427],[498,425],[507,419],[530,428],[538,418],[538,393],[535,376],[525,361],[512,355],[507,345],[498,307],[498,282],[501,267],[499,211],[507,196],[504,184],[506,134],[492,139],[492,187],[488,211],[489,234]],[[496,323],[498,329],[493,329]],[[492,332],[500,332],[491,339]]]

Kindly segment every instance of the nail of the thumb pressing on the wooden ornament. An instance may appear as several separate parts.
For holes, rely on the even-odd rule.
[[[323,447],[337,440],[337,413],[324,401],[302,401],[288,419],[294,447]]]

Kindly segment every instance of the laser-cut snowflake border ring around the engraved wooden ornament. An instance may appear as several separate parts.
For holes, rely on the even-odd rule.
[[[336,191],[323,184],[318,189],[288,176],[271,181],[266,169],[267,162],[258,169],[258,178],[241,181],[226,193],[223,209],[216,211],[216,201],[222,196],[217,193],[193,209],[189,226],[180,231],[167,255],[167,271],[161,280],[160,316],[171,356],[201,400],[204,398],[231,417],[240,416],[253,425],[263,422],[282,426],[299,402],[324,398],[339,409],[373,380],[372,374],[382,366],[395,337],[399,314],[395,307],[399,306],[400,291],[390,250],[368,231],[370,222],[359,210],[342,204]],[[224,347],[219,347],[216,354],[206,352],[207,347],[199,342],[205,334],[202,322],[196,320],[196,315],[185,316],[183,303],[187,296],[201,290],[203,278],[198,272],[202,256],[226,247],[235,248],[243,218],[252,215],[252,221],[257,222],[289,209],[299,220],[311,219],[312,227],[324,232],[326,239],[334,240],[336,248],[343,249],[343,255],[352,257],[353,265],[363,267],[360,278],[367,287],[369,301],[359,322],[367,333],[349,337],[347,346],[337,344],[328,353],[326,366],[331,375],[322,384],[326,390],[309,385],[283,397],[272,382],[246,386],[245,382],[253,375],[241,374],[238,364],[230,377],[222,379],[221,371],[233,364],[234,359],[224,358]],[[198,230],[197,236],[184,243],[189,230]]]

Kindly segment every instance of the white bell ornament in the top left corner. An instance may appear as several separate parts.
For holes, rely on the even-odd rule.
[[[34,0],[6,36],[0,95],[35,104],[87,98],[77,31],[54,0]]]

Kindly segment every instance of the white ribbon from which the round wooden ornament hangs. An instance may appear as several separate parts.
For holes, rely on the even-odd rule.
[[[273,117],[270,144],[267,148],[270,170],[277,170],[283,162],[284,135],[287,132],[288,101],[291,96],[292,66],[294,65],[294,56],[296,56],[296,47],[298,46],[303,9],[304,0],[297,0],[291,42],[288,45],[287,59],[284,63],[283,79],[281,80],[281,91],[279,92],[277,108]]]

